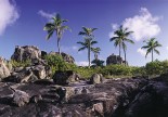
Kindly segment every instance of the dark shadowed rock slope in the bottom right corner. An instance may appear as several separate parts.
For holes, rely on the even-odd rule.
[[[168,117],[168,86],[151,82],[129,104],[125,117]]]

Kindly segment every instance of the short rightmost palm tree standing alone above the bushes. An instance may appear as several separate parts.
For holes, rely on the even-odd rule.
[[[152,53],[152,62],[153,62],[154,52],[156,54],[159,54],[159,51],[156,50],[156,48],[161,47],[161,44],[158,43],[158,41],[156,41],[155,38],[151,38],[147,41],[143,41],[143,42],[145,42],[146,46],[143,46],[141,49],[147,49],[145,57],[147,56],[148,53]]]

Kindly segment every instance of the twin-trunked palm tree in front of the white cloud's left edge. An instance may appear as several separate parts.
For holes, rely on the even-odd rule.
[[[128,28],[124,28],[122,25],[119,27],[118,30],[116,30],[115,37],[111,38],[109,41],[115,41],[114,46],[115,47],[119,47],[119,56],[120,56],[120,51],[121,48],[124,50],[125,53],[125,62],[126,62],[126,50],[127,50],[127,46],[125,42],[130,42],[130,43],[134,43],[131,39],[128,39],[128,37],[132,34],[133,31],[128,31]]]

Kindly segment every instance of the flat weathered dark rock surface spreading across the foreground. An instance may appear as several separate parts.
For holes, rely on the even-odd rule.
[[[10,87],[29,95],[22,107],[13,104]],[[167,117],[168,83],[161,78],[126,78],[104,83],[0,82],[1,117]]]

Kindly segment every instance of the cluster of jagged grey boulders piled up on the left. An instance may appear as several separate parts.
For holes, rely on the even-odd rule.
[[[33,82],[39,79],[48,79],[51,77],[51,68],[47,65],[47,62],[43,60],[47,54],[59,54],[56,52],[47,53],[40,51],[35,46],[25,46],[25,47],[15,47],[15,51],[11,56],[11,60],[16,62],[26,62],[30,61],[30,65],[27,67],[13,67],[10,68],[10,63],[7,63],[5,60],[0,58],[0,78],[4,81],[14,81],[14,82]],[[61,53],[63,60],[68,63],[75,63],[74,57],[68,54]]]

